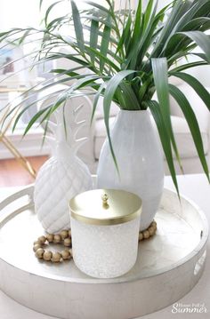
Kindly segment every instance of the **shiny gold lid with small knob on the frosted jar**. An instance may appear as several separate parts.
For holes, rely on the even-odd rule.
[[[69,202],[71,216],[85,224],[117,225],[141,213],[141,198],[117,189],[95,189],[76,195]]]

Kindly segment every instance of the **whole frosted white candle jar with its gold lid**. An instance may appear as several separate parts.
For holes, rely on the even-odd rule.
[[[116,189],[95,189],[69,202],[73,258],[97,278],[127,273],[138,252],[141,199]]]

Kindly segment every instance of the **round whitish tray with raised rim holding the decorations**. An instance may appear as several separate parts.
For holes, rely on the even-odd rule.
[[[20,304],[61,318],[128,319],[174,303],[198,283],[208,227],[204,213],[186,198],[181,204],[165,189],[157,235],[140,243],[129,273],[101,280],[81,273],[73,260],[54,265],[36,259],[33,242],[44,232],[33,210],[33,190],[0,203],[0,288]]]

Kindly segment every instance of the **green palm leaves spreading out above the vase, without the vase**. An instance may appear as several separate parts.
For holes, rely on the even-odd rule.
[[[42,6],[43,1],[40,1]],[[76,68],[52,69],[56,76],[53,83],[45,81],[43,86],[33,87],[36,92],[44,91],[55,84],[65,83],[69,78],[76,81],[61,92],[55,103],[36,113],[28,123],[25,134],[40,118],[40,122],[49,119],[52,113],[65,103],[77,90],[91,88],[88,94],[94,94],[93,116],[99,97],[102,95],[104,120],[108,132],[109,145],[117,165],[109,134],[109,110],[111,101],[126,110],[150,109],[158,127],[158,133],[166,155],[174,185],[178,190],[174,169],[173,153],[180,163],[179,151],[174,140],[170,118],[169,95],[178,102],[190,127],[190,132],[198,151],[200,162],[209,179],[209,171],[199,131],[198,121],[183,92],[174,84],[168,83],[175,76],[198,93],[210,109],[210,95],[198,80],[183,72],[186,69],[210,63],[210,39],[205,31],[210,28],[209,0],[174,0],[157,12],[158,1],[149,0],[145,10],[139,0],[136,10],[127,1],[124,8],[115,11],[115,2],[105,0],[104,6],[85,1],[90,8],[79,11],[75,1],[71,0],[71,12],[50,20],[50,12],[61,1],[52,4],[44,14],[44,27],[15,28],[0,35],[1,41],[12,37],[20,44],[28,41],[29,36],[38,33],[41,36],[40,47],[35,54],[33,65],[47,60],[65,58],[77,62]],[[62,33],[68,29],[68,36]],[[203,53],[194,52],[199,46]],[[73,52],[59,52],[58,48],[67,47]],[[198,56],[197,62],[189,62],[190,54]],[[186,62],[179,65],[185,58]],[[90,74],[81,74],[89,69]],[[63,77],[64,76],[64,77]],[[158,101],[152,100],[157,92]],[[28,98],[25,98],[27,101]],[[15,121],[32,106],[23,108]],[[11,113],[15,111],[12,108]],[[47,124],[46,124],[47,127]]]

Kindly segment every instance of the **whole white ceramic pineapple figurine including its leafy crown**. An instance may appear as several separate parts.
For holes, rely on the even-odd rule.
[[[93,188],[90,171],[77,157],[78,148],[86,140],[77,140],[77,132],[85,125],[85,121],[77,121],[81,108],[59,108],[54,113],[55,123],[49,122],[53,138],[46,139],[51,143],[52,157],[38,171],[34,202],[37,218],[50,234],[69,229],[69,200]]]

